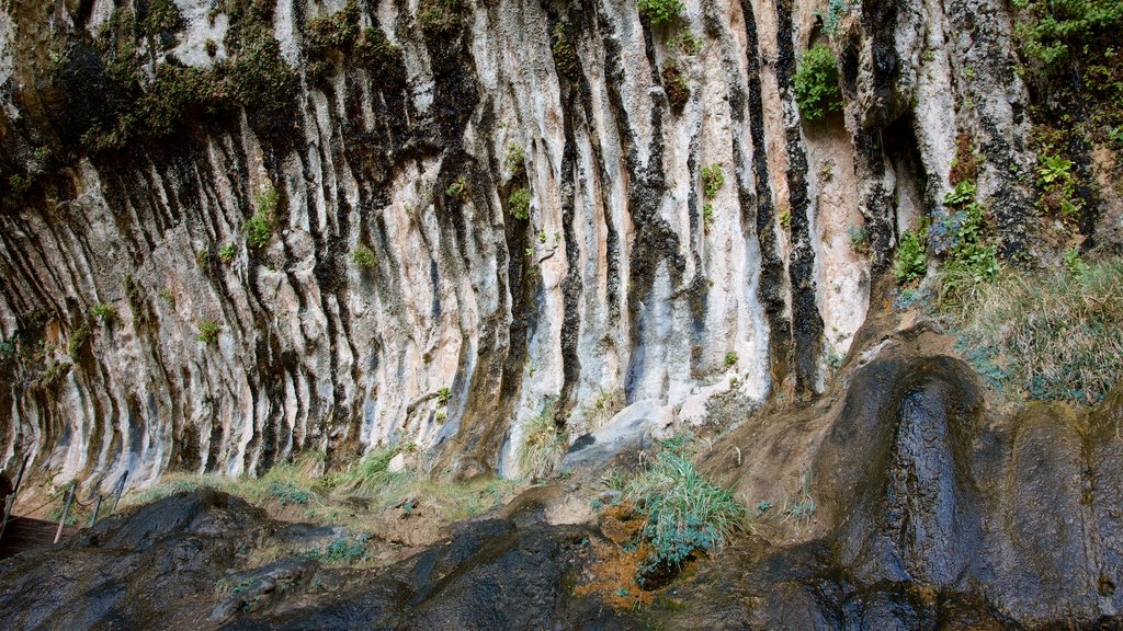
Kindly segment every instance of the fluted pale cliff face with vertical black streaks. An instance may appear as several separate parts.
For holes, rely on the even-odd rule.
[[[844,111],[805,125],[825,10],[3,3],[0,464],[143,484],[400,440],[514,475],[544,412],[821,391],[961,132],[1007,254],[1041,231],[1001,3],[849,6]]]

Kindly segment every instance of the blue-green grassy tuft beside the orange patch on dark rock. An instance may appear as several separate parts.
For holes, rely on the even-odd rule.
[[[641,586],[674,574],[692,557],[719,550],[746,524],[745,506],[702,477],[681,451],[665,445],[651,468],[626,486],[624,497],[647,515],[642,536],[655,549],[637,571]]]

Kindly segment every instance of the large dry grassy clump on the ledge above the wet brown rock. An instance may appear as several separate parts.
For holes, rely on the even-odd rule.
[[[1011,272],[946,313],[979,372],[1019,394],[1095,403],[1123,377],[1123,263]]]

